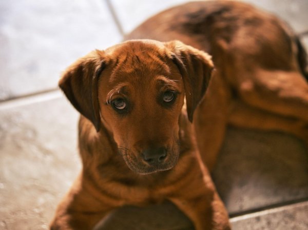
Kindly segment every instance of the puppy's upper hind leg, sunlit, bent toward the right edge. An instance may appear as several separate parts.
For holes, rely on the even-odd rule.
[[[308,83],[298,71],[257,70],[237,88],[252,107],[308,121]]]

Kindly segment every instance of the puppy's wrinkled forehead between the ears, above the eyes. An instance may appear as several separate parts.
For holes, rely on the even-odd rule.
[[[174,85],[181,81],[181,75],[167,52],[162,45],[138,41],[113,48],[108,85]]]

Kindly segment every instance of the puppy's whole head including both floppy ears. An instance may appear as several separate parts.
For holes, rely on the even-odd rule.
[[[130,40],[79,59],[59,85],[98,132],[112,134],[132,171],[149,174],[176,164],[184,97],[192,121],[212,69],[206,53],[180,41]]]

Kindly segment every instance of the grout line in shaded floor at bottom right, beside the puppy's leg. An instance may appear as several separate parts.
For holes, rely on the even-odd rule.
[[[230,219],[232,219],[233,221],[237,221],[238,219],[246,219],[246,216],[249,217],[253,217],[256,216],[258,213],[266,213],[272,210],[272,212],[276,212],[276,210],[280,210],[282,207],[285,206],[292,206],[292,205],[296,205],[296,204],[300,204],[300,203],[305,203],[308,202],[308,198],[301,198],[301,199],[297,199],[297,200],[292,200],[292,201],[285,201],[282,203],[278,203],[278,204],[272,204],[272,205],[267,205],[264,207],[259,207],[259,208],[254,208],[252,210],[248,210],[248,211],[243,211],[243,212],[238,212],[238,213],[231,213],[229,214]],[[274,210],[274,211],[273,211]],[[258,214],[258,215],[259,215]],[[248,217],[247,217],[248,218]]]

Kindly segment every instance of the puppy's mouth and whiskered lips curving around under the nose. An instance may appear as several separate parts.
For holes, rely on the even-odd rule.
[[[119,152],[123,156],[128,168],[131,171],[141,175],[170,170],[177,164],[179,159],[179,150],[168,151],[168,154],[161,162],[148,162],[141,156],[141,154],[136,154],[136,156],[127,149],[122,149]]]

